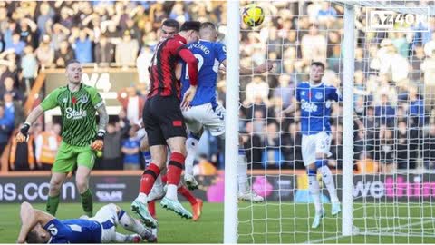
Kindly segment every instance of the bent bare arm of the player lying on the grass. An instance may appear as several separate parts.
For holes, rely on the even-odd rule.
[[[21,218],[21,230],[18,235],[17,243],[24,243],[27,234],[30,230],[34,229],[34,226],[40,223],[45,226],[50,220],[55,219],[53,215],[43,211],[35,210],[29,202],[24,201],[21,204],[20,210]]]

